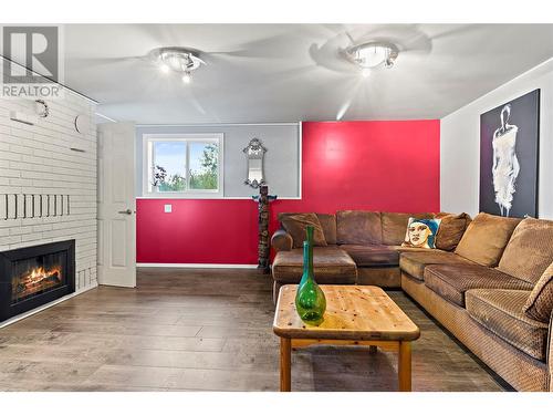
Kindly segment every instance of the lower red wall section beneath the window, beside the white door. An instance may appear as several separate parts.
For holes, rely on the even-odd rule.
[[[139,199],[137,262],[257,263],[257,229],[251,200]]]

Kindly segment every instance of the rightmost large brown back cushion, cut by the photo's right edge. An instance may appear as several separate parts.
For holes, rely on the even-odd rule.
[[[498,269],[535,283],[553,261],[553,220],[526,218],[514,229]]]

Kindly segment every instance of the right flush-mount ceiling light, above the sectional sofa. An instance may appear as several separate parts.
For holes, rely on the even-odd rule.
[[[373,69],[394,66],[399,49],[393,43],[367,42],[347,48],[344,54],[367,76]]]

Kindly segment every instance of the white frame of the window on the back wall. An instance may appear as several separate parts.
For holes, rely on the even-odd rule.
[[[223,184],[225,184],[225,134],[212,133],[212,134],[144,134],[143,135],[143,195],[159,199],[208,199],[208,198],[220,198],[223,197]],[[218,189],[186,189],[181,191],[153,191],[150,186],[152,178],[152,166],[153,166],[153,154],[150,152],[150,143],[155,142],[186,142],[186,168],[187,168],[187,186],[188,186],[188,175],[189,175],[189,143],[208,143],[213,142],[219,146],[219,172],[218,172]]]

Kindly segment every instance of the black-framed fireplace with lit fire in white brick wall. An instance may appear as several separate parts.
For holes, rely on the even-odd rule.
[[[74,291],[74,239],[0,252],[0,321]]]

